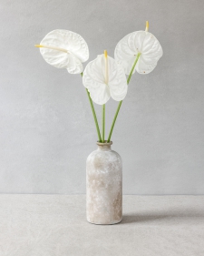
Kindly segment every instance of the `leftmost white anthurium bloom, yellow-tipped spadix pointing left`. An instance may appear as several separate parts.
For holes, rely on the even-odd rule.
[[[71,74],[83,72],[89,48],[82,36],[69,30],[56,29],[44,36],[40,45],[44,60],[53,67],[66,68]]]

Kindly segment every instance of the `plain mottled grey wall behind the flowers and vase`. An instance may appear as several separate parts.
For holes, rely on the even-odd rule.
[[[0,192],[84,193],[96,148],[82,78],[46,64],[34,44],[68,29],[86,40],[90,60],[104,49],[113,56],[146,20],[164,56],[132,77],[113,132],[123,192],[204,193],[204,2],[178,0],[0,1]],[[116,107],[107,104],[107,130]]]

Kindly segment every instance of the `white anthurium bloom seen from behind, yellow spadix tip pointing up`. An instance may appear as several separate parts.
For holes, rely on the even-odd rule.
[[[130,75],[135,70],[140,74],[149,74],[157,66],[157,62],[163,55],[160,42],[148,32],[149,23],[146,23],[145,31],[136,31],[124,36],[115,47],[115,60],[124,68],[125,74]]]

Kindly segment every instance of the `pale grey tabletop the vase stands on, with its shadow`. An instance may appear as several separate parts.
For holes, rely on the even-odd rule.
[[[0,230],[1,256],[203,256],[204,196],[124,196],[100,226],[82,195],[1,195]]]

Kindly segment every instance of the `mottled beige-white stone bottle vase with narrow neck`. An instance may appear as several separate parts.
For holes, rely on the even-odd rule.
[[[86,161],[86,217],[94,224],[114,224],[122,217],[122,165],[110,143],[97,143]]]

